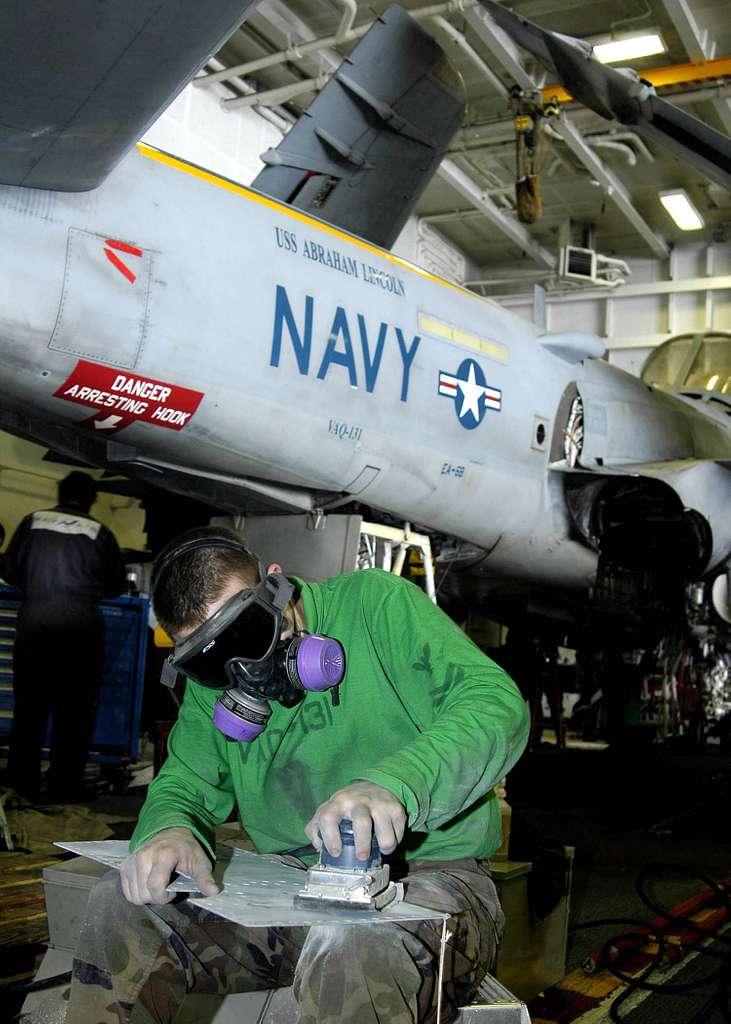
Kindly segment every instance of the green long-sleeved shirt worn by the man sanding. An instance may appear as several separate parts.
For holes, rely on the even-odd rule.
[[[219,691],[188,680],[132,848],[183,825],[213,854],[235,805],[261,853],[297,849],[318,805],[367,779],[405,808],[406,857],[488,857],[501,843],[493,786],[528,734],[515,684],[405,580],[365,569],[293,582],[307,629],[345,648],[339,705],[332,691],[272,701],[264,731],[234,742],[211,721]]]

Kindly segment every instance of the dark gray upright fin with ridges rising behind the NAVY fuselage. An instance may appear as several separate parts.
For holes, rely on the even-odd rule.
[[[388,248],[464,110],[437,43],[389,7],[282,140],[253,186]]]

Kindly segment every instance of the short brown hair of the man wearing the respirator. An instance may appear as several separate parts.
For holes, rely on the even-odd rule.
[[[177,554],[177,552],[180,552]],[[158,622],[171,636],[195,629],[226,587],[241,580],[254,587],[261,563],[241,535],[225,526],[189,529],[160,552],[153,566],[153,607]]]

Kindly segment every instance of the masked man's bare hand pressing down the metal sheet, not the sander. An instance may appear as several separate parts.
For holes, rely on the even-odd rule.
[[[205,896],[220,892],[211,862],[189,828],[163,828],[130,854],[120,868],[122,892],[137,906],[169,903],[177,895],[166,892],[173,871],[193,878]]]

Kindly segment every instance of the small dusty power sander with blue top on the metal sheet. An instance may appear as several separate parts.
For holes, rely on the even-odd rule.
[[[353,824],[347,818],[340,822],[340,839],[342,849],[337,857],[322,846],[318,862],[307,869],[304,889],[295,896],[295,906],[381,910],[403,899],[403,886],[390,881],[375,834],[365,860],[355,854]]]

